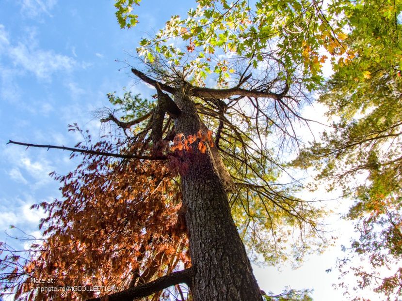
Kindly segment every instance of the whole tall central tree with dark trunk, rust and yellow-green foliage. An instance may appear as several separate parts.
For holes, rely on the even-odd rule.
[[[136,24],[139,2],[116,1],[122,27]],[[2,260],[14,268],[4,279],[16,297],[97,296],[31,290],[31,279],[53,275],[60,288],[115,284],[119,292],[101,292],[109,300],[179,283],[190,287],[189,300],[262,300],[244,244],[269,263],[289,256],[289,244],[296,258],[314,244],[322,212],[292,196],[297,183],[280,183],[278,153],[298,149],[295,122],[306,121],[298,108],[323,80],[320,47],[350,59],[341,13],[357,4],[197,3],[140,43],[144,69],[131,71],[156,89],[156,101],[109,95],[125,112],[103,121],[126,138],[70,148],[84,153],[83,163],[56,177],[63,201],[38,205],[49,214],[44,242],[25,263],[15,253]]]

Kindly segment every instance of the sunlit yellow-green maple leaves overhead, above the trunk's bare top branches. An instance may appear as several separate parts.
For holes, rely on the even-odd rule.
[[[260,0],[255,7],[246,0],[197,3],[187,18],[174,15],[155,38],[143,39],[139,55],[150,62],[161,56],[186,70],[198,85],[214,75],[221,86],[236,75],[235,64],[222,59],[222,54],[241,58],[254,69],[264,66],[267,59],[277,60],[288,74],[277,76],[289,82],[297,79],[313,90],[322,82],[322,63],[327,59],[320,47],[331,54],[344,52],[340,43],[346,34],[341,24],[331,23],[322,2]],[[185,46],[171,45],[177,39]]]

